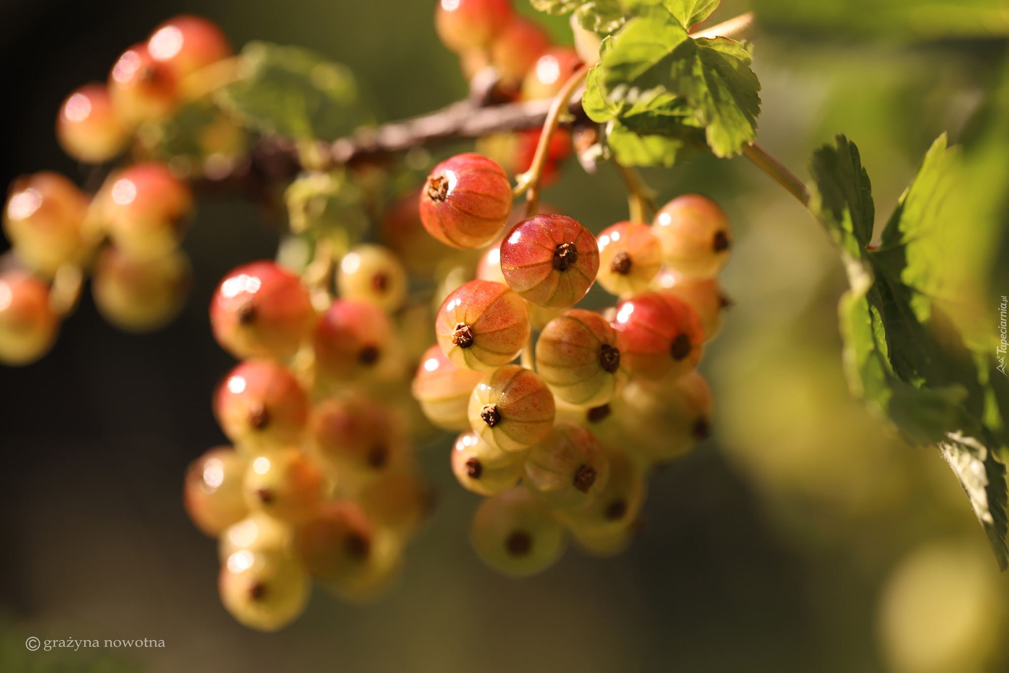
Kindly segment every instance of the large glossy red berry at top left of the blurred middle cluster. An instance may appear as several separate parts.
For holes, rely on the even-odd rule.
[[[214,337],[235,357],[289,358],[315,318],[298,276],[266,259],[224,276],[210,304]]]

